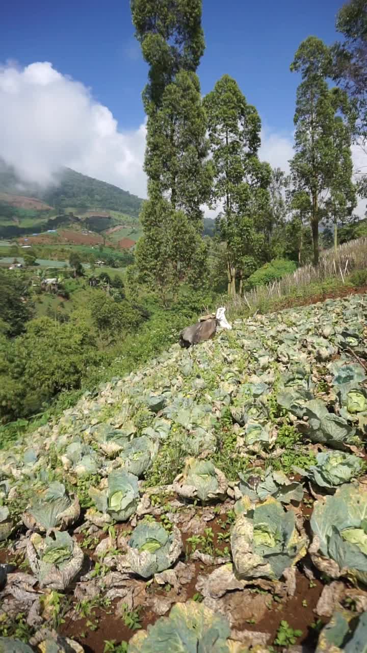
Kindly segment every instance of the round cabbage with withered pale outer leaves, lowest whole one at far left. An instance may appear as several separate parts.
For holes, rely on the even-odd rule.
[[[69,533],[51,530],[46,537],[31,535],[27,558],[40,588],[65,590],[82,569],[84,553]]]

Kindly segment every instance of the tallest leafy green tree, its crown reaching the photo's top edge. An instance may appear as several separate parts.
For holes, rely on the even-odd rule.
[[[155,289],[167,304],[167,294],[182,281],[196,285],[206,276],[200,205],[210,196],[212,164],[195,75],[204,51],[201,0],[133,0],[131,11],[150,67],[144,91],[148,202],[135,281]]]

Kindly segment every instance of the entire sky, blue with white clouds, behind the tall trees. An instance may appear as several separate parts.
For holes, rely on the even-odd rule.
[[[293,156],[299,78],[289,65],[306,37],[336,40],[342,3],[203,0],[202,93],[225,73],[237,80],[263,121],[259,156],[273,167],[289,170]],[[3,4],[0,155],[28,181],[50,183],[66,165],[146,197],[148,69],[129,0]]]

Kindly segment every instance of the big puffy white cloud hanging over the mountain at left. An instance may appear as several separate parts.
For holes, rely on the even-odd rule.
[[[0,153],[46,185],[68,166],[146,197],[146,127],[121,131],[110,110],[47,61],[0,68]]]

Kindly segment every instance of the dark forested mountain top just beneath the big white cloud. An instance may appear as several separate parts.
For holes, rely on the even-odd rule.
[[[42,189],[36,184],[25,183],[14,168],[0,160],[0,193],[35,197],[54,207],[58,212],[72,206],[78,211],[118,211],[138,217],[143,200],[112,183],[101,182],[71,168],[63,168],[56,174],[56,183]]]

